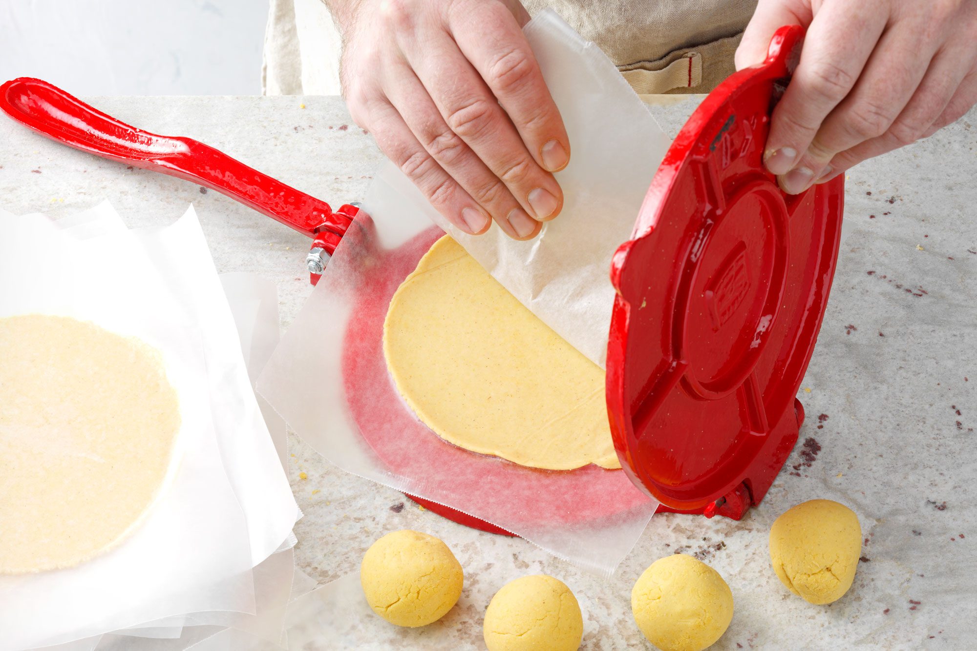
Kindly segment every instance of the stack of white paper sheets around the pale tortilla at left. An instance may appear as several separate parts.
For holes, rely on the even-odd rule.
[[[72,569],[0,577],[0,648],[103,648],[136,643],[133,634],[181,643],[225,626],[279,641],[283,613],[267,613],[283,608],[291,587],[299,511],[278,453],[283,424],[269,436],[249,398],[225,299],[227,289],[257,371],[277,341],[274,286],[247,274],[222,286],[192,209],[138,231],[106,204],[58,223],[0,217],[0,316],[65,314],[141,337],[163,352],[185,426],[171,485],[122,545]],[[99,635],[128,626],[136,629]]]

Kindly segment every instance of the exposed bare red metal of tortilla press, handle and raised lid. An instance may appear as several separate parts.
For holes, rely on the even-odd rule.
[[[790,196],[762,164],[802,37],[782,27],[766,61],[701,103],[610,261],[611,430],[624,472],[659,510],[740,519],[767,493],[804,418],[795,394],[827,306],[844,177]],[[213,147],[140,131],[43,81],[7,82],[0,108],[58,142],[211,187],[309,235],[314,284],[351,225],[370,224],[355,205],[334,212]]]

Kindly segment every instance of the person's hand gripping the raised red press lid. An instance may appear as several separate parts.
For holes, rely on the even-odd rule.
[[[764,162],[786,192],[926,138],[977,102],[977,0],[760,0],[736,53],[807,27],[774,109]]]

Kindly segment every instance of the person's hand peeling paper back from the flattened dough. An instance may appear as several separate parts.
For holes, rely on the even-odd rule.
[[[563,207],[570,160],[518,0],[331,0],[353,119],[451,224],[516,239]]]

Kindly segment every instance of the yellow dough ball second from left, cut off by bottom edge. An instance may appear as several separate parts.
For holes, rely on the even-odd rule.
[[[488,651],[573,651],[583,637],[583,617],[566,584],[538,574],[495,592],[483,634]]]

